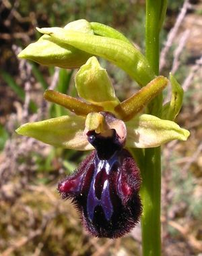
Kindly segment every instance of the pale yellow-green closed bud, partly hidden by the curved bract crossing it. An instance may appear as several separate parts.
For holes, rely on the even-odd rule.
[[[86,20],[76,20],[70,22],[63,28],[65,31],[82,31],[93,34],[90,23]],[[79,68],[91,57],[90,53],[83,52],[75,47],[59,43],[53,37],[43,35],[35,43],[26,47],[18,57],[31,59],[42,65],[57,66],[60,68]]]

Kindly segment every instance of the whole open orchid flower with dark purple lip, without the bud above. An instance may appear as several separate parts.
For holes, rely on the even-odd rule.
[[[63,199],[73,199],[84,226],[95,236],[122,236],[139,220],[141,178],[129,149],[158,147],[189,136],[172,121],[141,113],[167,84],[167,78],[158,76],[120,103],[106,70],[90,57],[75,76],[80,99],[51,90],[44,93],[46,100],[72,114],[17,130],[57,147],[93,150],[76,172],[59,182],[58,190]]]

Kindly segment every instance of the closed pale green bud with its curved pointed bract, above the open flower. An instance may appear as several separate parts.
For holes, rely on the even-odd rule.
[[[119,66],[139,85],[154,79],[154,71],[143,54],[121,32],[100,24],[76,20],[64,28],[37,28],[44,34],[18,57],[47,66],[79,68],[92,55]]]

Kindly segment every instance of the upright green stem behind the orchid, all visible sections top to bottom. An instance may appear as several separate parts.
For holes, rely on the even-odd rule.
[[[146,1],[145,55],[156,75],[159,74],[159,36],[166,12],[166,1]],[[161,116],[162,95],[156,97],[148,106],[147,112]],[[161,149],[145,149],[141,166],[141,198],[143,215],[141,217],[143,256],[161,255]]]

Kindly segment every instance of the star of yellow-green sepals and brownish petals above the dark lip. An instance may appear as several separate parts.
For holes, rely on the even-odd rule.
[[[24,124],[16,130],[18,134],[31,136],[50,145],[77,150],[93,149],[88,143],[86,130],[107,134],[116,127],[122,127],[120,131],[116,130],[118,134],[126,129],[127,147],[158,147],[174,139],[187,140],[189,131],[176,123],[139,114],[167,85],[168,80],[164,76],[158,76],[123,103],[116,98],[106,70],[100,67],[95,57],[81,66],[75,81],[78,94],[83,100],[50,90],[44,93],[45,99],[66,107],[72,115]],[[109,110],[118,121],[109,122],[104,119],[102,112]],[[125,120],[125,124],[121,120]]]

